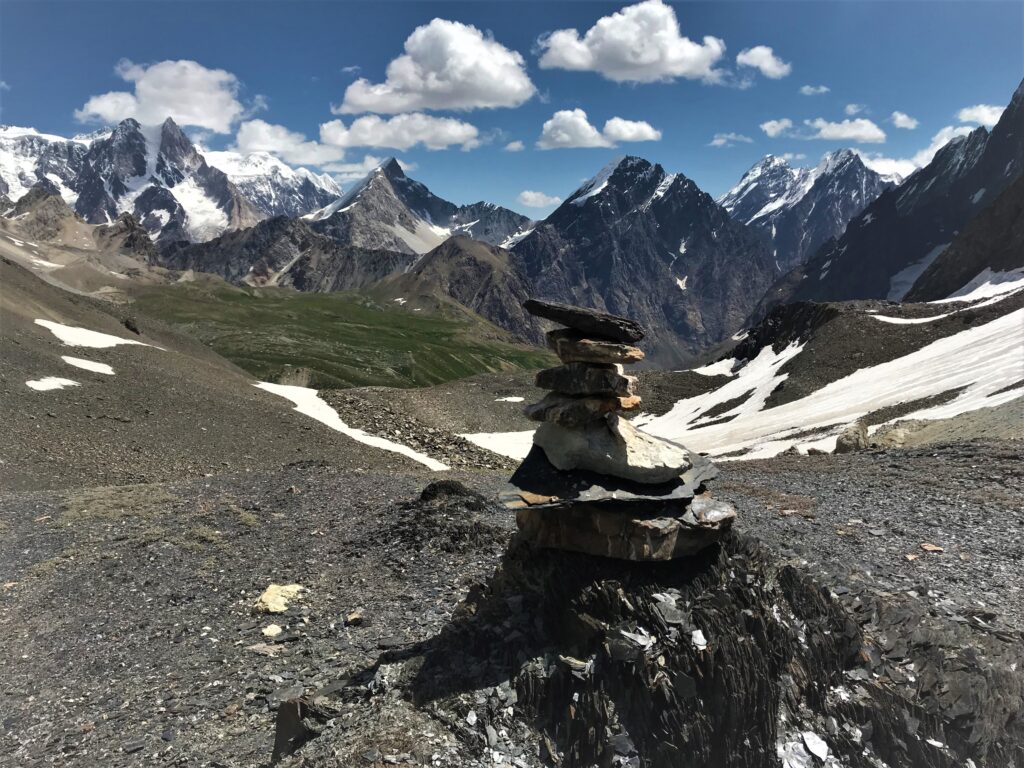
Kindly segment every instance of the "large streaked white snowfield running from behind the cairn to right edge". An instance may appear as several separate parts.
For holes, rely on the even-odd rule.
[[[679,400],[667,414],[634,423],[648,434],[721,460],[767,459],[791,447],[801,453],[834,451],[839,433],[867,414],[950,390],[963,389],[948,402],[892,421],[948,419],[1024,395],[1024,309],[861,369],[799,400],[765,409],[769,395],[787,378],[781,368],[801,350],[798,344],[780,352],[765,347],[718,389]],[[707,416],[715,407],[739,397],[739,404],[729,411]],[[727,417],[732,418],[723,422]],[[522,459],[532,435],[532,430],[525,430],[461,436],[502,456]]]

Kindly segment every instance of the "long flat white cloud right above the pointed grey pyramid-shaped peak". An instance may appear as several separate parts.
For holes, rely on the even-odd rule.
[[[476,126],[455,118],[436,118],[422,113],[382,118],[366,115],[346,126],[332,120],[321,126],[321,141],[332,146],[379,146],[409,150],[423,144],[428,150],[458,145],[473,150],[480,145]]]

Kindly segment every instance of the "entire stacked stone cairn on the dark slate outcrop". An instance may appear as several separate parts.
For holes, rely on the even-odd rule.
[[[541,425],[501,495],[522,536],[626,560],[669,560],[718,541],[736,511],[705,489],[716,467],[624,416],[640,407],[637,379],[623,365],[643,359],[634,346],[643,329],[566,304],[530,299],[523,308],[566,328],[547,335],[562,365],[537,375],[537,386],[551,391],[524,409]]]

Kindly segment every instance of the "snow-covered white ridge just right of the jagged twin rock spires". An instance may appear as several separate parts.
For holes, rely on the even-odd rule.
[[[341,188],[329,174],[292,168],[266,152],[243,155],[201,148],[200,153],[267,216],[302,216],[341,197]]]

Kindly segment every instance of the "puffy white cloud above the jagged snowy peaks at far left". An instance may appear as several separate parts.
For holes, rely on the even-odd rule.
[[[132,91],[90,97],[75,111],[76,120],[117,123],[134,118],[143,125],[158,125],[173,118],[180,125],[229,133],[237,121],[266,105],[265,99],[258,97],[247,110],[239,100],[240,83],[234,75],[207,69],[198,61],[138,65],[124,58],[115,72],[132,84]]]

